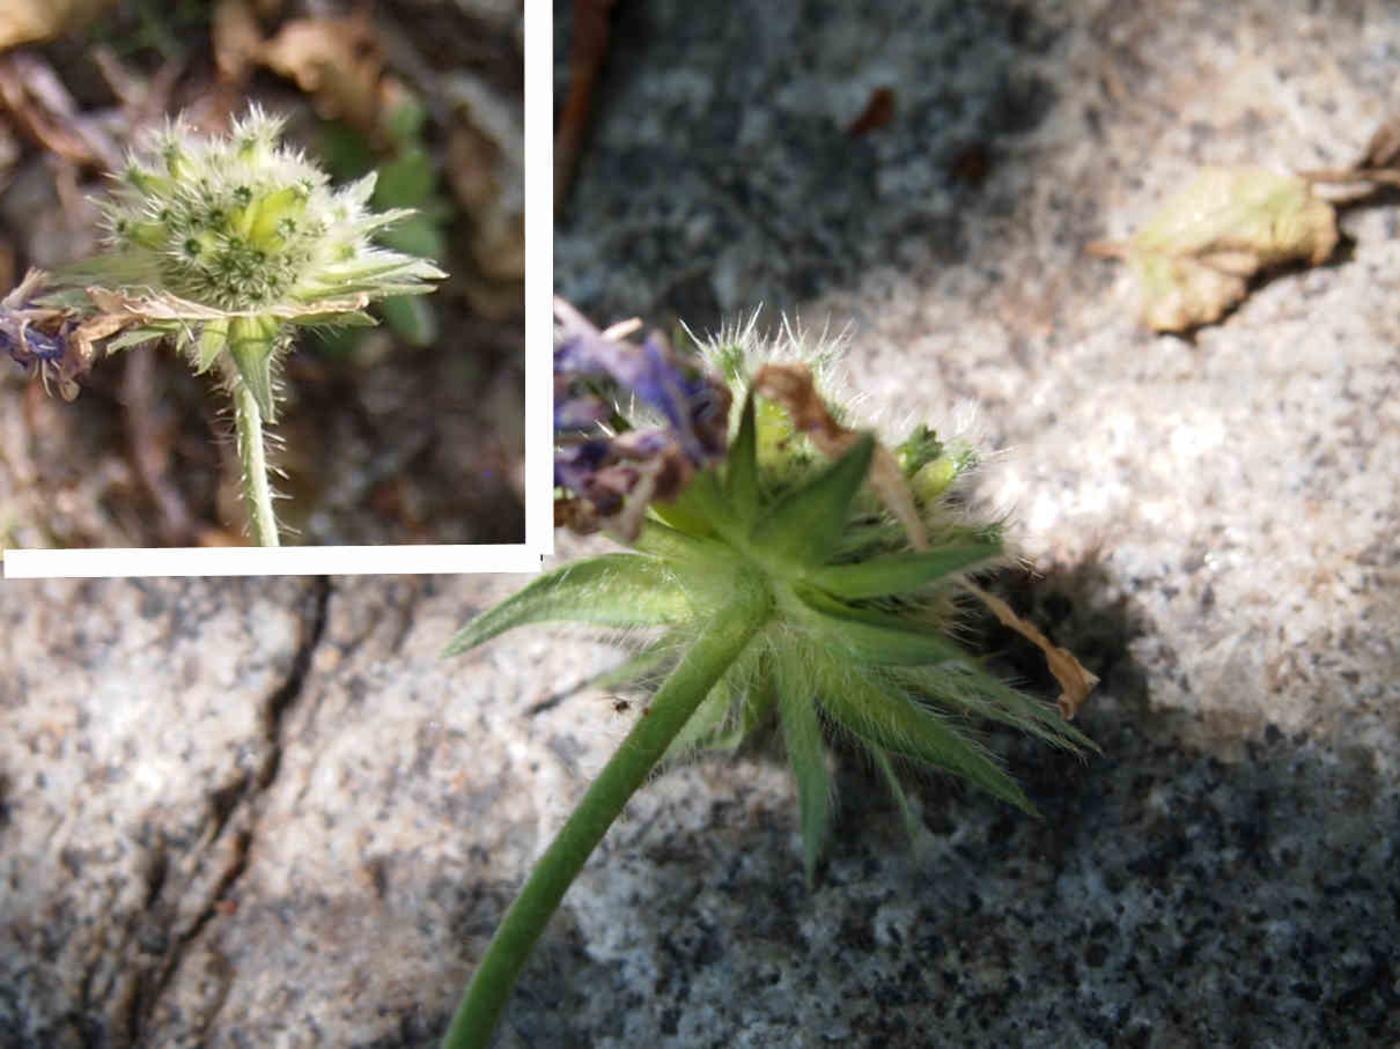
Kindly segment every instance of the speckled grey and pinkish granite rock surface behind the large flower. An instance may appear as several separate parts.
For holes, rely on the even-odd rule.
[[[561,290],[850,319],[871,419],[1000,452],[983,494],[1043,573],[1004,584],[1103,678],[1103,755],[993,737],[1044,818],[930,777],[913,843],[846,760],[811,892],[770,748],[672,769],[500,1046],[1396,1045],[1396,202],[1194,342],[1082,246],[1200,164],[1350,160],[1400,17],[728,8],[617,6]],[[585,637],[438,660],[518,583],[6,584],[0,1045],[434,1045],[637,716],[574,690],[615,658]]]

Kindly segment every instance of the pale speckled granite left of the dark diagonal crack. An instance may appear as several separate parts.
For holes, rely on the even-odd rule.
[[[315,590],[3,585],[0,1045],[147,1029],[246,863]]]

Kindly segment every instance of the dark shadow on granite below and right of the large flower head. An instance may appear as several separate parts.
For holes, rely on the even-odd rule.
[[[1180,744],[1183,716],[1149,710],[1128,653],[1133,604],[1096,563],[1035,585],[1008,577],[1001,592],[1103,678],[1082,711],[1102,756],[991,741],[1042,819],[928,776],[910,784],[925,828],[910,843],[878,777],[847,760],[836,842],[809,892],[791,797],[755,801],[755,766],[734,767],[704,829],[672,826],[665,810],[620,828],[606,870],[581,887],[616,908],[609,943],[577,926],[547,938],[508,1013],[510,1043],[1400,1036],[1393,784],[1364,755],[1274,728],[1236,763]],[[1037,683],[1037,655],[988,644]]]

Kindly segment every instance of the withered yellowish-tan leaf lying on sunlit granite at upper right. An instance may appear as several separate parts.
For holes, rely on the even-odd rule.
[[[1264,168],[1204,168],[1126,244],[1092,244],[1121,258],[1142,289],[1142,322],[1158,332],[1215,324],[1260,270],[1326,262],[1337,214],[1308,179]]]

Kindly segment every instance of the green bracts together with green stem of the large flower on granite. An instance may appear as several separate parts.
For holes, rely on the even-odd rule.
[[[1009,724],[1071,749],[1092,745],[1054,707],[998,681],[955,640],[955,598],[966,573],[1002,559],[1000,527],[967,524],[951,500],[951,486],[973,464],[970,451],[949,452],[920,427],[890,455],[834,412],[808,410],[808,422],[826,427],[816,440],[795,427],[791,405],[756,395],[745,342],[713,350],[728,381],[749,388],[718,465],[703,466],[678,499],[652,501],[641,529],[627,531],[636,535],[630,552],[542,576],[448,647],[461,653],[552,620],[651,634],[595,681],[648,689],[647,710],[503,917],[444,1049],[490,1043],[550,915],[666,756],[736,746],[776,716],[797,779],[811,882],[832,826],[829,744],[836,737],[869,753],[911,833],[918,818],[899,783],[900,762],[952,773],[1030,811],[974,738],[976,721]],[[826,461],[819,445],[841,454]]]

